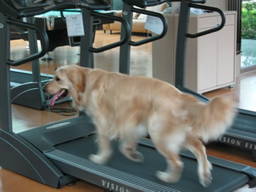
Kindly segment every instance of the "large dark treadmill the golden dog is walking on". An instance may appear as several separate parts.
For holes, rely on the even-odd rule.
[[[24,0],[26,1],[26,0]],[[117,142],[114,142],[114,155],[106,165],[95,164],[88,160],[89,154],[97,151],[95,146],[95,127],[90,117],[80,115],[73,119],[47,124],[42,127],[15,133],[11,122],[11,100],[10,100],[10,74],[9,65],[14,65],[16,61],[9,60],[9,24],[26,25],[34,28],[41,34],[42,53],[47,52],[47,38],[44,31],[36,26],[16,21],[14,16],[33,16],[38,12],[50,11],[61,8],[80,8],[83,16],[87,16],[92,21],[95,15],[94,10],[108,9],[109,4],[102,0],[72,0],[72,1],[50,1],[51,6],[43,6],[43,1],[38,5],[31,4],[31,0],[26,1],[29,9],[20,9],[21,0],[0,1],[0,23],[4,28],[0,29],[0,95],[1,115],[0,115],[0,166],[9,169],[17,174],[21,174],[35,181],[48,186],[60,188],[63,185],[76,181],[78,178],[84,181],[101,186],[109,191],[234,191],[237,188],[248,184],[250,187],[256,186],[256,169],[225,161],[213,156],[208,159],[213,164],[213,183],[208,188],[203,188],[198,181],[197,162],[195,157],[188,151],[182,151],[182,161],[185,165],[183,175],[178,183],[164,183],[154,176],[155,171],[164,170],[166,163],[164,158],[154,149],[154,144],[149,139],[141,139],[139,151],[145,156],[144,164],[137,164],[124,158],[117,150]],[[44,1],[45,2],[45,1]],[[154,6],[165,1],[138,0],[135,3],[142,3],[143,6]],[[150,3],[150,4],[147,4]],[[139,4],[141,5],[141,4]],[[4,9],[1,9],[4,8]],[[19,9],[18,9],[19,8]],[[97,16],[99,16],[97,14]],[[114,18],[114,16],[112,17]],[[117,18],[116,18],[117,19]],[[128,23],[118,18],[122,26],[129,30],[126,36],[130,36]],[[84,22],[85,23],[85,22]],[[87,29],[88,30],[88,29]],[[91,28],[92,32],[92,28]],[[122,32],[123,33],[123,32]],[[90,36],[90,33],[88,34]],[[86,38],[86,37],[83,37]],[[121,38],[112,46],[120,46],[128,42],[129,38]],[[7,41],[6,41],[7,40]],[[122,41],[124,40],[124,41]],[[92,42],[81,41],[81,48]],[[105,48],[111,48],[107,46]],[[103,48],[103,49],[105,49]],[[85,50],[85,47],[83,47]],[[98,51],[92,47],[90,53]],[[101,49],[100,49],[101,50]],[[36,53],[37,54],[37,53]],[[19,65],[25,63],[24,60],[35,59],[39,56],[29,56],[18,60]],[[81,58],[92,61],[92,58],[83,54]],[[92,56],[92,54],[89,54]],[[32,58],[31,58],[32,57]],[[85,63],[83,63],[85,64]],[[92,65],[92,63],[90,63]],[[3,73],[4,72],[4,73]]]

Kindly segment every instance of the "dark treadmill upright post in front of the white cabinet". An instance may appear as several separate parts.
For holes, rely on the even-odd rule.
[[[176,71],[175,71],[175,85],[185,87],[186,77],[186,48],[188,38],[188,21],[190,14],[190,7],[188,2],[181,1],[180,14],[178,17],[178,35],[176,45]]]

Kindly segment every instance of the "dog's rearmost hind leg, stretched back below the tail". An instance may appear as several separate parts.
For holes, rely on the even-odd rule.
[[[186,139],[184,147],[186,149],[189,149],[198,160],[198,176],[200,183],[204,187],[209,186],[212,180],[212,176],[210,173],[212,165],[210,164],[210,161],[208,161],[207,159],[206,147],[196,137],[189,136]]]

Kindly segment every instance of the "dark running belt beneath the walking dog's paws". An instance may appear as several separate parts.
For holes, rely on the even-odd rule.
[[[245,185],[248,181],[248,177],[245,174],[242,174],[238,171],[233,171],[230,169],[224,169],[220,166],[213,166],[212,176],[213,183],[211,183],[208,188],[203,188],[198,181],[197,174],[197,161],[190,159],[188,157],[182,157],[184,164],[183,174],[181,180],[178,183],[164,183],[159,181],[155,174],[156,171],[164,171],[166,169],[166,161],[163,156],[161,156],[155,149],[139,144],[138,151],[141,151],[144,154],[145,162],[142,164],[135,163],[125,158],[117,149],[118,142],[113,142],[114,153],[112,154],[111,159],[108,161],[106,166],[100,166],[102,170],[102,175],[104,174],[105,169],[114,169],[122,171],[126,174],[132,175],[134,177],[142,178],[142,181],[147,180],[157,185],[163,186],[164,188],[169,187],[173,190],[167,189],[158,189],[159,191],[233,191],[236,188],[240,188]],[[81,139],[74,140],[72,142],[67,142],[65,144],[60,144],[55,146],[56,151],[63,151],[64,154],[68,154],[70,158],[73,158],[79,164],[79,159],[85,159],[86,162],[90,162],[87,158],[90,154],[95,154],[97,151],[97,146],[95,144],[95,136],[89,136]],[[54,150],[53,150],[54,151]],[[48,154],[49,153],[49,154]],[[60,162],[59,159],[56,159],[55,154],[50,154],[51,152],[46,152],[46,156],[53,158],[56,164]],[[61,155],[60,155],[61,156]],[[65,155],[64,155],[65,156]],[[57,160],[57,161],[56,161]],[[63,161],[65,164],[63,166],[59,165],[60,169],[63,169],[63,172],[67,173],[67,161]],[[61,164],[61,163],[60,163]],[[74,166],[73,163],[71,163]],[[70,165],[71,165],[70,164]],[[96,165],[96,164],[95,164]],[[78,168],[79,166],[77,166]],[[70,174],[72,175],[72,174]],[[113,176],[112,174],[111,176]],[[117,179],[119,179],[117,177]],[[104,180],[102,180],[102,187]],[[139,183],[139,181],[137,181]],[[149,191],[158,191],[156,189],[150,188],[149,184],[145,186],[149,187]]]

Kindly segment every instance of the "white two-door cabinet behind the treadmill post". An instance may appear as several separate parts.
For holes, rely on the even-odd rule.
[[[178,15],[165,16],[169,31],[152,46],[153,77],[174,84]],[[225,16],[226,23],[220,31],[188,38],[186,87],[191,90],[202,93],[235,84],[236,12],[226,11]],[[206,31],[218,23],[218,14],[191,14],[188,33]]]

